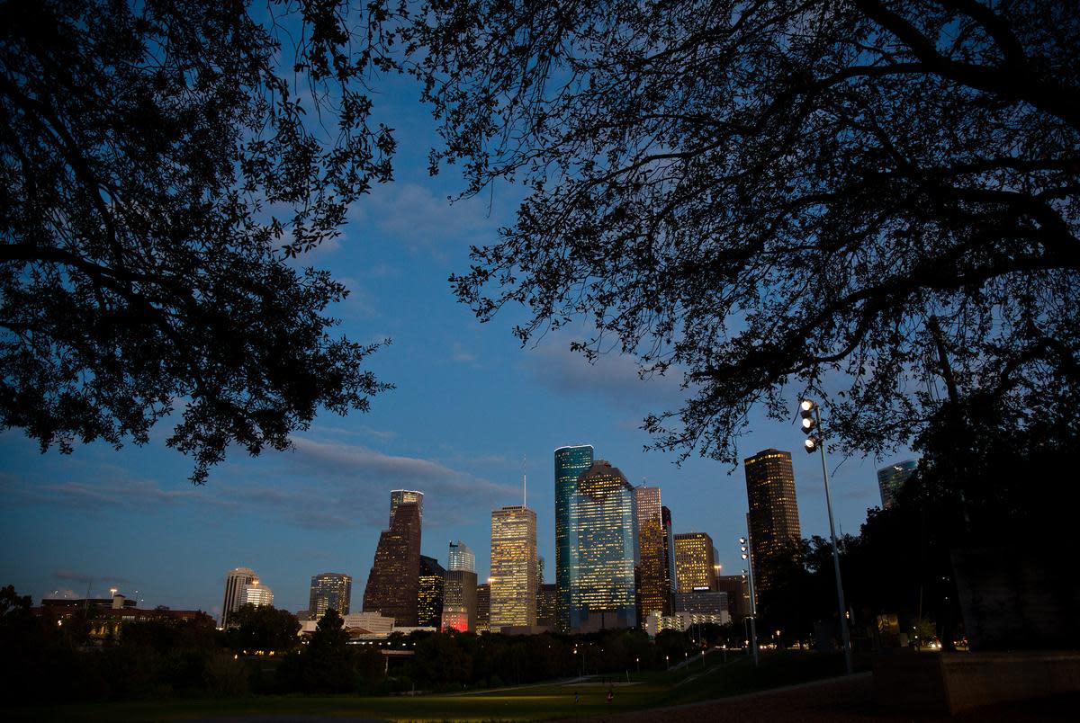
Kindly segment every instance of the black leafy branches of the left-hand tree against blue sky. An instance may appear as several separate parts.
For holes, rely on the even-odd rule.
[[[330,336],[346,288],[288,262],[391,178],[365,8],[0,2],[0,427],[70,451],[179,410],[201,482],[387,388]]]

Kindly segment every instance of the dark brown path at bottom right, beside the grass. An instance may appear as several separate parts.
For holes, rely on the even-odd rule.
[[[630,713],[593,717],[611,723],[867,723],[869,721],[961,721],[963,723],[1036,723],[1076,721],[1080,695],[1002,704],[967,711],[956,717],[912,714],[882,710],[874,705],[870,673],[832,678],[784,688],[702,702],[653,708]]]

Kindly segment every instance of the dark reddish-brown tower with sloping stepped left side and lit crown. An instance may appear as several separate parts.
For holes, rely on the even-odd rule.
[[[379,535],[364,589],[364,612],[380,612],[393,617],[395,625],[415,627],[419,591],[420,507],[399,501],[390,529]]]

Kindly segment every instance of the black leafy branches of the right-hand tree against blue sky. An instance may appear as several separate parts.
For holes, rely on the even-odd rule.
[[[1077,10],[433,0],[409,30],[433,168],[528,192],[457,296],[527,308],[523,342],[584,316],[590,358],[684,372],[646,421],[684,455],[735,463],[750,408],[801,390],[866,451],[946,396],[1075,418]]]

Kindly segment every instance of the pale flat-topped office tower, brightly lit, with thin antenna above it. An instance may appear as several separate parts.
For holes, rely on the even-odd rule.
[[[491,511],[491,630],[537,624],[537,514]]]

